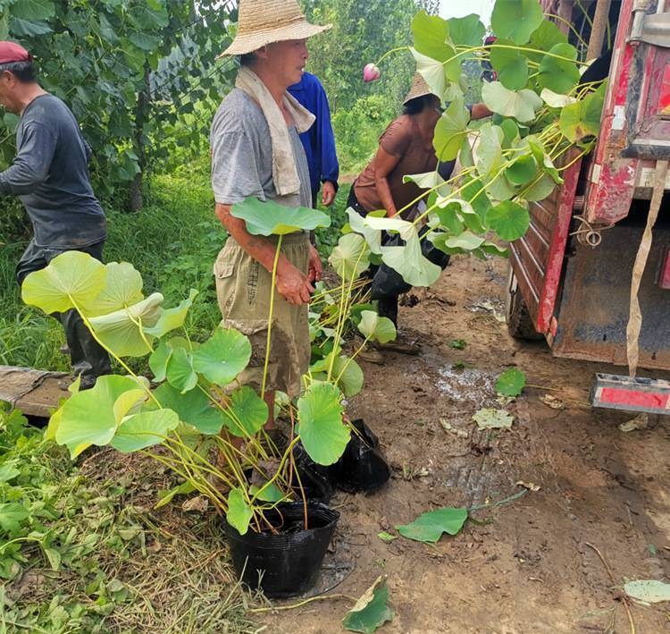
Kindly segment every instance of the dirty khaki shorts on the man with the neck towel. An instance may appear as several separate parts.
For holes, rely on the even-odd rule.
[[[270,237],[274,244],[276,236]],[[307,274],[309,266],[309,235],[285,235],[281,251],[289,262]],[[229,237],[214,264],[216,295],[226,328],[236,328],[251,341],[251,361],[239,376],[242,385],[260,393],[263,383],[265,347],[272,274],[268,273],[238,242]],[[300,377],[309,369],[311,344],[307,321],[308,307],[293,306],[274,292],[272,341],[266,392],[281,390],[289,396],[300,395]]]

